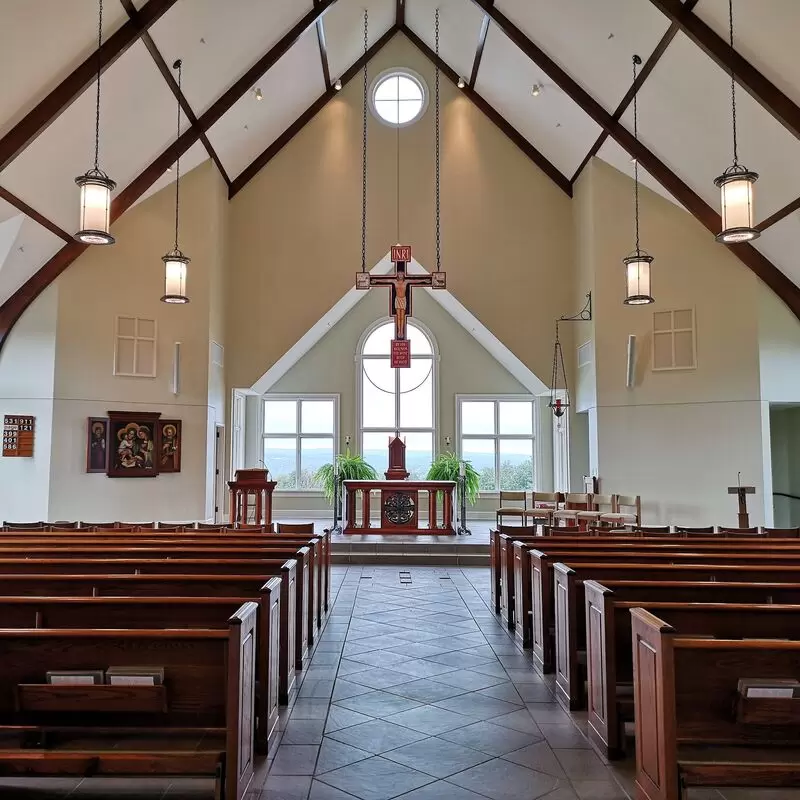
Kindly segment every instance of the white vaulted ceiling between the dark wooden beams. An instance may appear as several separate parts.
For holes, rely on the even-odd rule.
[[[146,0],[134,0],[141,8]],[[10,131],[87,56],[96,37],[96,0],[0,0],[0,136]],[[314,0],[178,0],[150,29],[171,66],[184,62],[183,90],[202,115],[315,5]],[[496,0],[496,7],[558,66],[613,113],[631,81],[631,56],[645,61],[669,28],[649,0]],[[322,17],[331,79],[362,54],[363,13],[369,44],[395,22],[395,0],[337,0]],[[440,53],[459,75],[472,73],[482,10],[471,0],[406,0],[406,24],[431,49],[434,14],[441,11]],[[736,47],[800,104],[800,0],[736,0]],[[726,0],[700,0],[695,12],[727,36]],[[119,0],[105,0],[104,35],[127,22]],[[35,44],[35,46],[33,46]],[[534,83],[544,89],[531,95]],[[261,89],[263,100],[253,89]],[[601,130],[551,76],[489,25],[476,90],[558,170],[571,178]],[[104,73],[100,166],[122,188],[175,139],[175,100],[144,44],[131,46]],[[233,179],[326,90],[314,26],[259,78],[208,131]],[[641,137],[667,166],[712,207],[713,179],[731,161],[730,84],[727,74],[678,34],[639,95]],[[91,165],[94,87],[89,87],[0,173],[0,186],[67,233],[77,221],[73,180]],[[797,139],[747,92],[737,93],[740,160],[760,173],[757,217],[763,219],[800,195]],[[631,109],[623,124],[632,126]],[[184,129],[186,123],[184,123]],[[598,156],[632,174],[629,155],[607,139]],[[201,143],[182,158],[182,170],[208,157]],[[164,173],[145,196],[174,180]],[[643,183],[676,202],[647,173]],[[0,302],[64,242],[0,201]],[[14,241],[4,249],[6,238]],[[7,234],[7,236],[6,236]],[[800,214],[768,229],[756,246],[800,284]]]

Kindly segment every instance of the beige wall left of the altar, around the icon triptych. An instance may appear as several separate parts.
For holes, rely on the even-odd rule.
[[[180,244],[192,258],[188,305],[159,301],[164,291],[161,256],[174,238],[174,187],[126,214],[114,226],[113,247],[88,250],[59,278],[51,519],[182,520],[213,513],[210,437],[214,422],[224,420],[224,395],[221,388],[210,392],[209,332],[216,330],[222,338],[224,328],[215,293],[223,268],[226,205],[224,183],[210,162],[182,180]],[[156,320],[155,378],[114,376],[119,314]],[[181,343],[177,396],[172,392],[175,342]],[[86,418],[109,410],[158,411],[164,418],[181,419],[181,473],[139,480],[87,474]]]

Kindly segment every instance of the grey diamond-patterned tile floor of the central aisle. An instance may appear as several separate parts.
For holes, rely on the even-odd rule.
[[[628,800],[490,610],[485,568],[334,567],[334,605],[247,800]],[[0,797],[207,800],[207,781],[10,781]],[[693,791],[690,800],[800,792]]]

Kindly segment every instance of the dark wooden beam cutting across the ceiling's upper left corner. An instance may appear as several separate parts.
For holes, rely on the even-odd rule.
[[[95,50],[76,67],[50,94],[29,111],[2,139],[0,139],[0,171],[4,170],[42,131],[77,100],[81,93],[97,78],[98,57],[105,71],[128,48],[139,40],[142,33],[157,22],[177,0],[149,0],[139,12],[139,22],[126,22],[113,33],[98,53]]]

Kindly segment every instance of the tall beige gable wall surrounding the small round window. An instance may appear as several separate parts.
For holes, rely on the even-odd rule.
[[[395,37],[370,74],[430,63]],[[442,258],[448,288],[547,380],[553,319],[571,306],[569,198],[449,82],[442,83]],[[353,285],[361,265],[361,90],[353,81],[236,195],[230,216],[229,386],[251,386]],[[371,267],[399,239],[434,266],[433,107],[369,128]],[[313,276],[313,279],[311,278]]]

